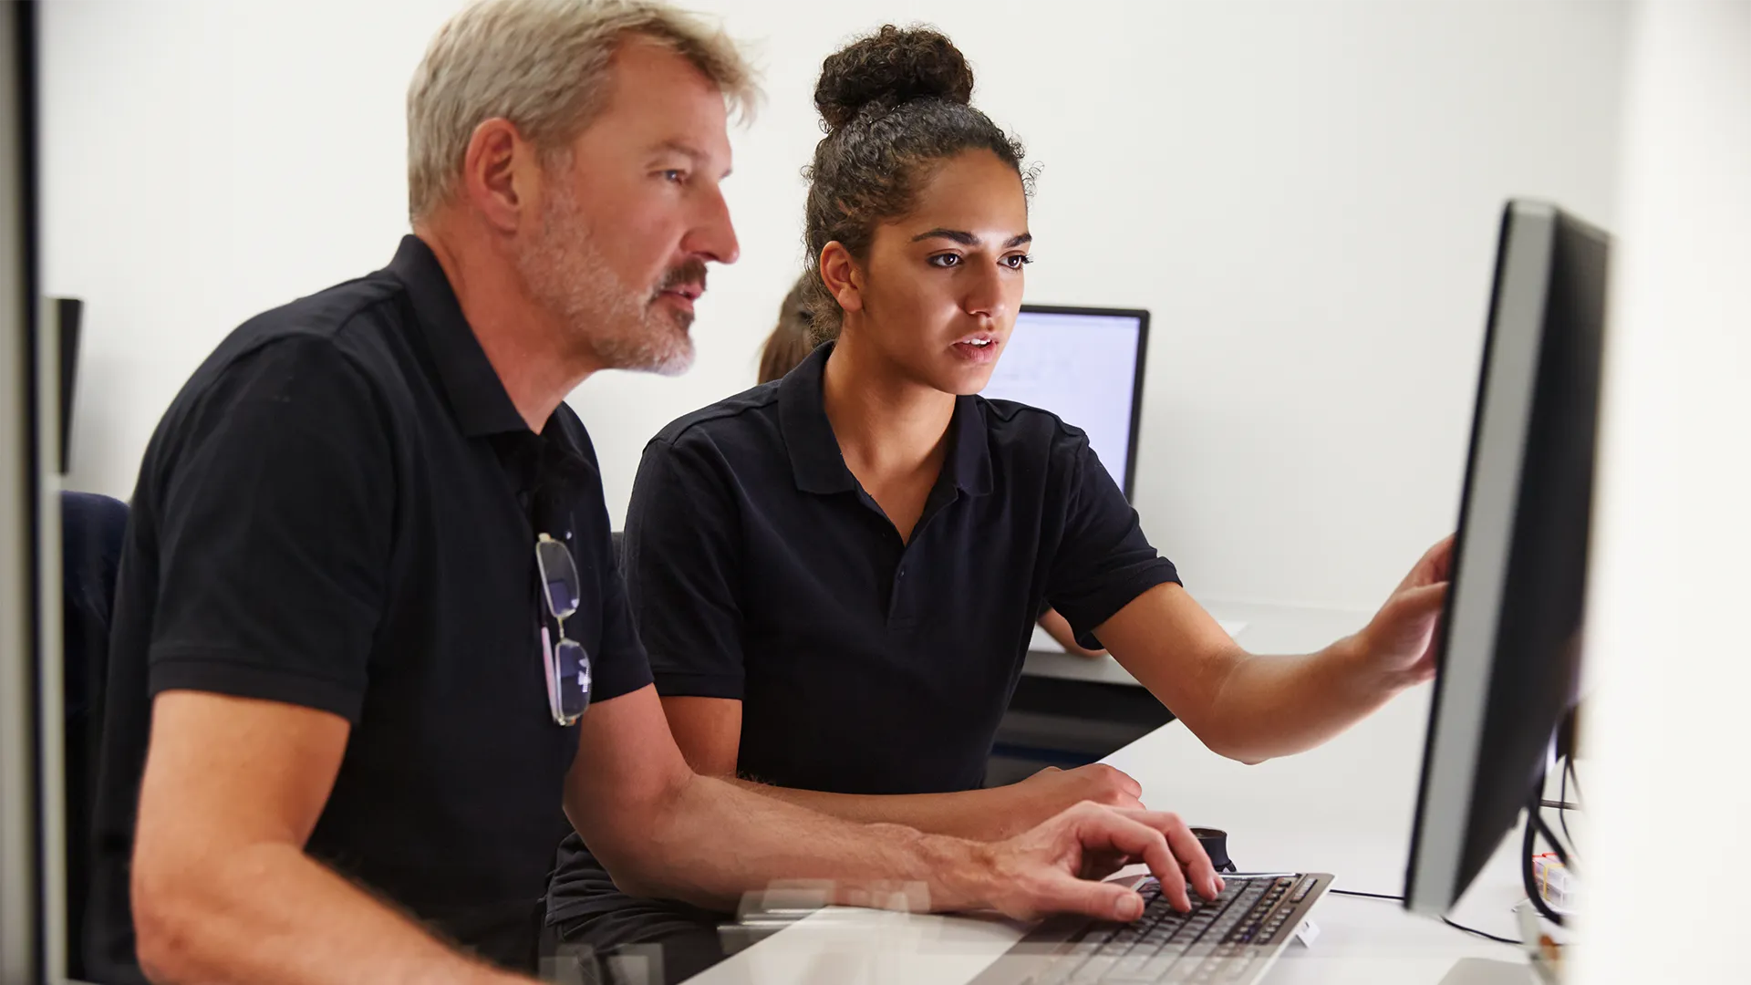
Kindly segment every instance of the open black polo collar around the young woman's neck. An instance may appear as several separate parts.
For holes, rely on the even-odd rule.
[[[858,489],[821,400],[821,380],[832,352],[832,342],[816,347],[777,384],[779,429],[784,435],[784,450],[790,454],[797,489],[804,492]],[[970,496],[991,492],[991,445],[986,442],[984,414],[977,396],[954,398],[949,435],[949,457],[939,484],[951,482]]]

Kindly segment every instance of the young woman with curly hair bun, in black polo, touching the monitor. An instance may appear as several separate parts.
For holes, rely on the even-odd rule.
[[[833,342],[651,440],[625,568],[697,771],[847,818],[1002,838],[1142,794],[1098,766],[982,789],[1047,605],[1212,750],[1261,761],[1431,677],[1446,545],[1359,634],[1252,657],[1180,587],[1082,431],[972,396],[1031,245],[1023,149],[970,105],[972,82],[930,30],[888,26],[823,63],[805,305]],[[590,939],[616,904],[576,892],[585,855],[566,869],[550,915]]]

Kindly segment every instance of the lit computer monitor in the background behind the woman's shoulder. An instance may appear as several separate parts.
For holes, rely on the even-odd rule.
[[[1023,305],[984,396],[1051,410],[1087,431],[1129,498],[1147,349],[1149,312]]]

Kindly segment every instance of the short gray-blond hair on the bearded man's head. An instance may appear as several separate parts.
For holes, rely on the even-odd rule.
[[[480,0],[450,18],[408,86],[408,214],[417,223],[455,191],[468,142],[504,117],[543,152],[567,147],[608,103],[609,60],[629,35],[667,46],[723,89],[755,98],[735,44],[653,0]]]

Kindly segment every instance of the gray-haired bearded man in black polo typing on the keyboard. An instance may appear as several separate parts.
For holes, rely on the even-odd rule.
[[[662,4],[466,7],[408,91],[413,235],[242,324],[172,401],[117,585],[98,981],[527,981],[567,829],[620,885],[718,908],[811,878],[1129,920],[1140,896],[1087,876],[1138,857],[1182,908],[1182,868],[1217,892],[1171,815],[1080,804],[986,845],[676,748],[564,396],[692,359],[707,265],[739,252],[748,79]]]

